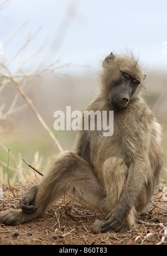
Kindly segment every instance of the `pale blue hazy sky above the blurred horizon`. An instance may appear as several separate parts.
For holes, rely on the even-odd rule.
[[[24,54],[35,53],[46,42],[40,59],[46,63],[63,56],[65,63],[97,68],[111,51],[128,49],[148,67],[166,69],[166,17],[166,0],[1,0],[0,59],[17,66],[16,53],[40,28]]]

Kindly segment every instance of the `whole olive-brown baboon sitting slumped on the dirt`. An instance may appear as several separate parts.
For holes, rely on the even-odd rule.
[[[148,205],[163,167],[161,127],[141,97],[143,68],[133,55],[111,53],[102,63],[101,89],[86,110],[114,111],[114,132],[79,130],[73,151],[58,154],[48,172],[20,200],[20,210],[2,211],[6,225],[43,218],[67,195],[108,212],[93,233],[129,230]]]

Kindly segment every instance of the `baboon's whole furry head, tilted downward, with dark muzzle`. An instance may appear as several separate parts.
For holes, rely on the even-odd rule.
[[[145,74],[134,58],[110,54],[102,63],[102,84],[107,101],[114,110],[122,110],[141,91]]]

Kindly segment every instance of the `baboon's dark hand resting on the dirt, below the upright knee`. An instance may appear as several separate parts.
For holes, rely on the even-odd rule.
[[[112,211],[106,219],[107,221],[101,226],[102,233],[107,231],[120,231],[124,223],[124,218],[122,218],[119,214],[116,214],[115,211]]]

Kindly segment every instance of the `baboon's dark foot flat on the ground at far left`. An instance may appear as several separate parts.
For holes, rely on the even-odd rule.
[[[24,214],[22,210],[6,210],[0,212],[0,222],[5,225],[19,225],[36,219],[32,214]]]

